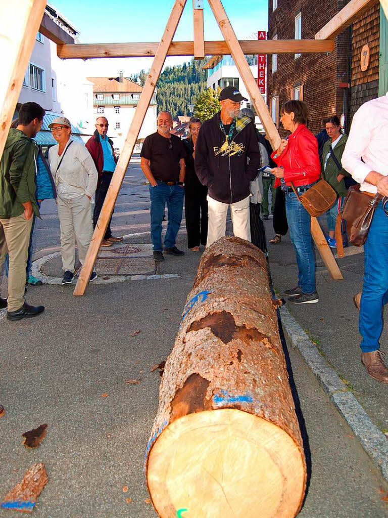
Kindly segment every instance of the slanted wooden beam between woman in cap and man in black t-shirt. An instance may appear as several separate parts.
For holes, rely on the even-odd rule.
[[[108,222],[112,215],[114,204],[117,199],[118,191],[120,191],[128,163],[132,156],[133,147],[135,147],[140,128],[143,124],[145,114],[154,94],[155,86],[159,79],[161,69],[166,61],[167,52],[170,47],[172,38],[174,37],[176,27],[178,26],[178,23],[181,19],[186,1],[187,0],[175,0],[170,18],[165,28],[165,32],[163,33],[158,50],[156,51],[155,59],[153,61],[150,73],[148,74],[148,77],[145,81],[135,115],[133,116],[131,125],[129,127],[124,147],[116,164],[107,196],[105,198],[105,202],[102,205],[100,217],[98,218],[92,241],[89,245],[89,249],[85,257],[85,262],[78,278],[76,288],[74,289],[74,295],[83,295],[89,283],[89,279],[96,262],[97,254],[100,249],[101,241],[105,235],[105,231],[107,229]]]

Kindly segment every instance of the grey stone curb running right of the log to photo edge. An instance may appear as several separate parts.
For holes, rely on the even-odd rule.
[[[334,369],[327,364],[325,358],[319,354],[317,347],[311,342],[301,325],[284,306],[280,308],[280,318],[292,347],[297,348],[302,354],[323,390],[359,439],[384,480],[388,482],[388,439],[371,422],[362,405],[340,380]]]

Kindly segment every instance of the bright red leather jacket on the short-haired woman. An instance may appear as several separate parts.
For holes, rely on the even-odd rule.
[[[318,154],[318,141],[304,124],[300,124],[288,137],[288,144],[283,152],[272,158],[278,167],[284,168],[284,179],[288,186],[307,185],[315,182],[321,175],[321,163]],[[276,178],[275,187],[280,185]]]

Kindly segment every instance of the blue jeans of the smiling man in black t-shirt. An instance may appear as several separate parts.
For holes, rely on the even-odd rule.
[[[176,235],[181,226],[183,213],[183,199],[185,190],[181,185],[167,185],[157,180],[158,185],[150,185],[151,196],[151,239],[154,251],[162,251],[161,231],[165,215],[165,206],[168,209],[168,225],[165,236],[165,247],[175,246]]]

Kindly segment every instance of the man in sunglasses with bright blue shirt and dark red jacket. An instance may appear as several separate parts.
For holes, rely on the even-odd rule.
[[[93,213],[93,228],[96,227],[102,205],[111,183],[114,168],[117,159],[114,154],[113,142],[108,138],[108,120],[105,117],[98,117],[96,120],[96,131],[93,136],[86,142],[86,148],[92,155],[92,159],[96,165],[98,172],[98,183],[96,190],[96,204]],[[113,212],[112,212],[113,214]],[[112,242],[122,241],[122,237],[113,237],[111,231],[111,221],[109,220],[105,237],[102,240],[101,247],[111,247]]]

